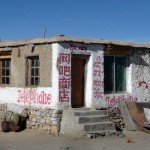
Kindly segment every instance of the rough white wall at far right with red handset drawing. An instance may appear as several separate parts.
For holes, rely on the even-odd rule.
[[[130,56],[132,93],[142,102],[150,101],[150,51],[137,50]]]

